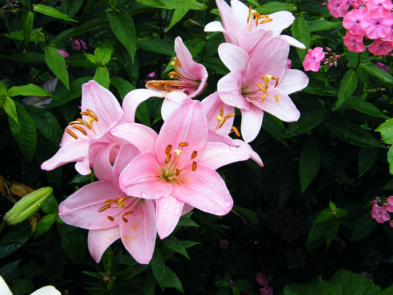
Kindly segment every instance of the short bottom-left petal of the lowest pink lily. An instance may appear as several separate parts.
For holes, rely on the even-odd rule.
[[[93,257],[95,262],[100,262],[105,250],[107,250],[107,248],[119,238],[120,230],[118,225],[108,229],[89,230],[87,244],[90,255]]]

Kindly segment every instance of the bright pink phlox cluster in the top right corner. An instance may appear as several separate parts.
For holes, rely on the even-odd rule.
[[[329,0],[327,8],[333,17],[343,17],[343,27],[347,29],[343,42],[349,51],[363,52],[363,38],[373,41],[367,50],[374,55],[393,50],[391,0]]]

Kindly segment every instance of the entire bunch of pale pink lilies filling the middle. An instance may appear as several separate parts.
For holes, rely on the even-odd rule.
[[[215,170],[247,159],[263,166],[248,142],[258,135],[264,112],[286,122],[300,116],[288,94],[309,80],[290,68],[288,53],[290,45],[305,46],[280,35],[293,15],[261,15],[238,0],[231,6],[217,0],[217,6],[222,24],[212,22],[205,30],[224,34],[227,42],[218,53],[230,73],[216,92],[195,99],[206,89],[208,73],[177,37],[170,79],[147,81],[146,89],[129,92],[122,106],[95,81],[84,84],[82,118],[69,123],[59,151],[41,166],[52,170],[76,162],[82,175],[94,169],[98,181],[63,201],[59,217],[89,230],[96,262],[120,238],[136,261],[147,264],[156,235],[171,234],[183,214],[194,208],[218,216],[230,212],[232,197]],[[153,96],[163,98],[158,134],[134,118],[138,105]],[[242,114],[241,132],[233,126],[235,107]],[[228,136],[231,132],[244,141]]]

